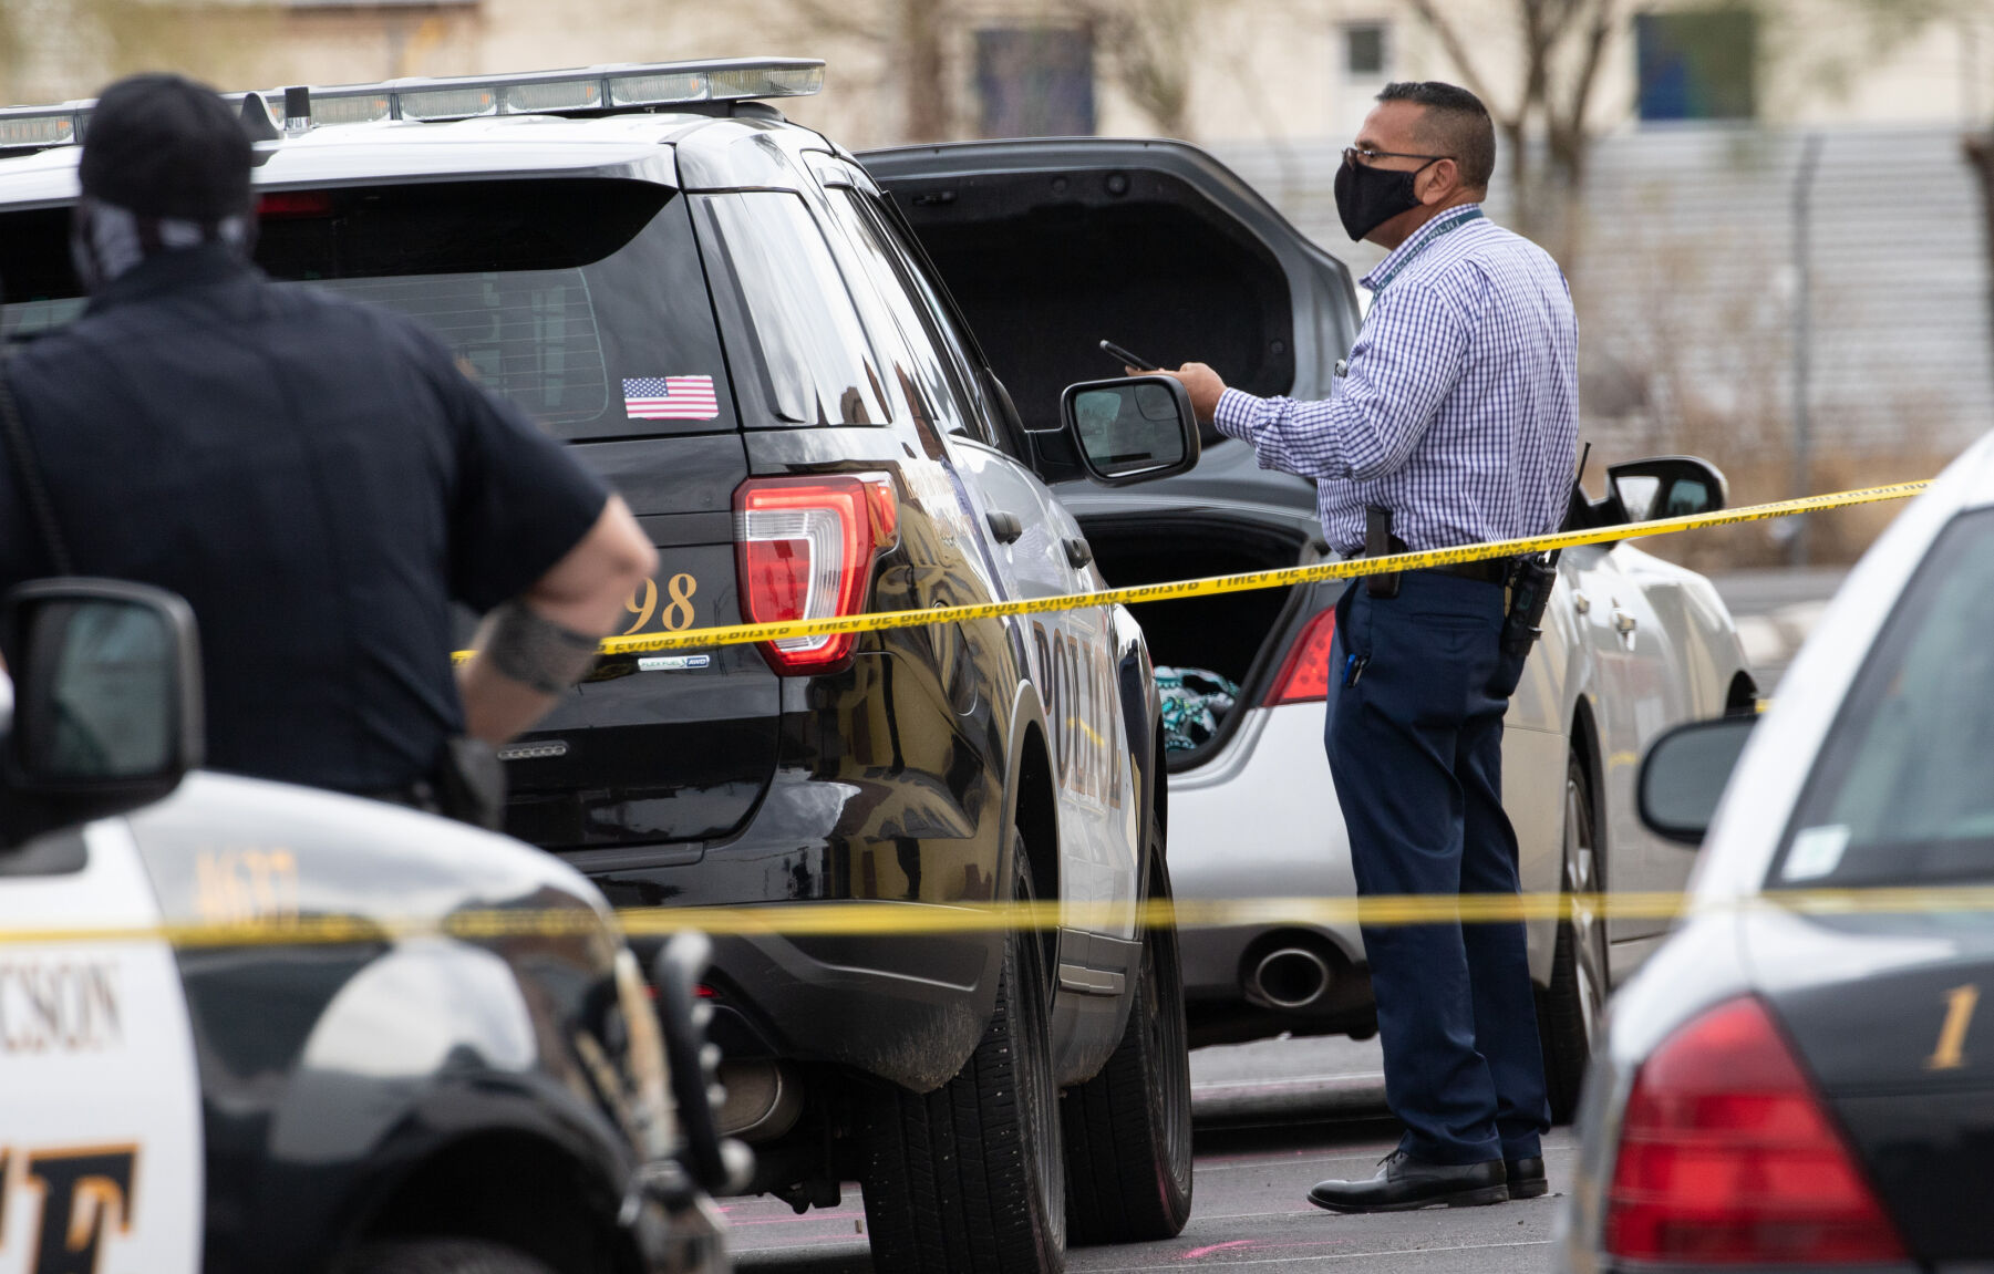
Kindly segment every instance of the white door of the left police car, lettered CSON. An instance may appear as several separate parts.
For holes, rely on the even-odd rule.
[[[0,849],[0,929],[134,929],[160,905],[124,819]],[[201,1089],[164,937],[0,957],[0,1274],[199,1268]]]

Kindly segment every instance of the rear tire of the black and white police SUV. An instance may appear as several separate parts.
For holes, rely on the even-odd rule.
[[[1013,839],[1013,897],[1031,865]],[[933,1093],[883,1085],[865,1105],[865,1228],[881,1274],[1057,1274],[1067,1262],[1065,1160],[1039,933],[1005,939],[977,1051]]]

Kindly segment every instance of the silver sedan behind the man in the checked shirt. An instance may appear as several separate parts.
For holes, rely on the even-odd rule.
[[[1689,459],[1609,473],[1575,520],[1617,524],[1717,508],[1725,482]],[[1324,560],[1314,488],[1216,443],[1192,475],[1141,492],[1073,492],[1111,584]],[[1352,897],[1350,845],[1322,752],[1324,666],[1342,582],[1139,606],[1159,666],[1238,686],[1208,738],[1170,752],[1178,899]],[[1679,889],[1687,855],[1641,827],[1641,750],[1677,722],[1751,712],[1757,686],[1703,576],[1629,542],[1571,550],[1511,702],[1503,790],[1525,891]],[[1188,742],[1188,740],[1180,740]],[[1553,1113],[1577,1103],[1605,997],[1661,941],[1659,919],[1529,925]],[[1250,923],[1182,933],[1192,1043],[1376,1031],[1352,925]]]

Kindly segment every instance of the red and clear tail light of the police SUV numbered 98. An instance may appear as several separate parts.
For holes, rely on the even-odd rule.
[[[734,490],[744,620],[776,624],[859,614],[879,550],[899,536],[893,484],[881,477],[750,478]],[[776,672],[831,672],[855,632],[764,642]]]

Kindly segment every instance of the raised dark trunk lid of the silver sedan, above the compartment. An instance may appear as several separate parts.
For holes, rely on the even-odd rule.
[[[1029,429],[1121,375],[1103,339],[1248,393],[1326,397],[1356,337],[1340,261],[1180,142],[1019,140],[869,152]]]

